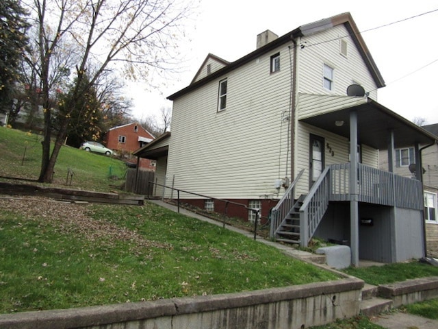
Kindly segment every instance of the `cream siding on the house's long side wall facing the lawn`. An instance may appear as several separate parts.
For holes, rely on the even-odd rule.
[[[289,49],[282,49],[276,52],[288,68]],[[290,76],[289,69],[270,75],[271,55],[227,74],[223,112],[216,108],[224,77],[174,101],[168,175],[175,175],[175,187],[219,198],[275,197],[274,181],[285,177],[290,156],[289,121],[281,120],[289,110]]]

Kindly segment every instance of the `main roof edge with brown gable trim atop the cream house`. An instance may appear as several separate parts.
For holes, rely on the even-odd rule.
[[[238,67],[250,62],[251,60],[255,60],[262,54],[268,53],[269,51],[272,51],[272,49],[275,49],[276,47],[279,47],[283,44],[289,43],[300,36],[309,36],[310,34],[322,32],[325,31],[326,29],[330,29],[331,27],[335,27],[337,25],[342,25],[342,24],[346,25],[346,28],[352,40],[354,40],[355,45],[363,58],[363,61],[365,62],[368,69],[370,70],[370,73],[374,78],[374,81],[376,82],[376,86],[378,86],[378,88],[385,86],[385,81],[383,80],[380,71],[378,71],[376,63],[374,62],[371,53],[368,50],[368,47],[365,45],[365,41],[363,40],[355,21],[353,21],[351,14],[349,12],[346,12],[344,14],[339,14],[336,16],[329,17],[328,19],[322,19],[320,21],[302,25],[292,30],[291,32],[288,32],[287,34],[281,36],[280,38],[277,38],[276,40],[269,42],[267,45],[264,45],[263,47],[260,47],[259,49],[256,49],[251,53],[248,53],[248,55],[236,60],[235,62],[231,62],[227,64],[226,66],[222,67],[222,69],[219,69],[218,71],[214,71],[210,75],[206,75],[200,80],[196,80],[196,79],[192,80],[189,86],[177,91],[177,93],[174,93],[168,96],[167,98],[170,100],[177,99],[178,97],[181,97],[186,93],[189,93],[190,91],[195,90],[196,88],[199,88],[204,84],[207,84],[207,82],[215,80],[220,75],[227,74],[237,69]],[[204,61],[203,64],[205,63],[206,62]],[[201,69],[202,68],[203,66],[201,66]],[[195,77],[196,76],[197,75],[195,75]]]

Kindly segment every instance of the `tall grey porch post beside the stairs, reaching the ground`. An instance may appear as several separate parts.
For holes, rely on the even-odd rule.
[[[357,112],[350,112],[350,249],[351,264],[359,266],[359,202],[357,191]]]

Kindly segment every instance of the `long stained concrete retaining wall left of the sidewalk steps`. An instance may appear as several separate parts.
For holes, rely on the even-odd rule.
[[[359,314],[363,281],[346,278],[285,288],[0,315],[8,329],[307,328]]]

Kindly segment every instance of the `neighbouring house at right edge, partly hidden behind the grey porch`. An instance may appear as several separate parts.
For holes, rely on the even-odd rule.
[[[438,123],[423,125],[422,128],[438,136]],[[438,256],[438,144],[420,145],[419,153],[422,161],[422,171],[417,173],[415,146],[407,145],[396,149],[394,173],[407,178],[417,178],[422,175],[424,186],[424,220],[426,221],[426,244],[428,256]],[[380,167],[388,169],[387,150],[380,150]]]

